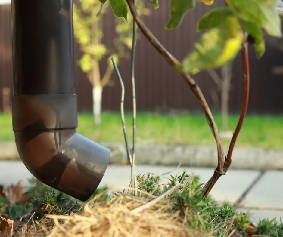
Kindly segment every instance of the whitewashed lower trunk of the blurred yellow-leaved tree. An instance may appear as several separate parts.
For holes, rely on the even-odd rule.
[[[95,85],[92,88],[92,106],[93,117],[95,125],[101,123],[101,102],[102,102],[102,87],[101,85]]]

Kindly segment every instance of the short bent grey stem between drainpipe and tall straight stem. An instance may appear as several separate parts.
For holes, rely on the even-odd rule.
[[[123,79],[121,77],[121,74],[119,72],[119,69],[117,67],[117,64],[114,60],[114,58],[111,58],[114,69],[117,73],[117,76],[119,78],[120,84],[121,84],[121,88],[122,88],[122,95],[121,95],[121,120],[122,120],[122,126],[123,126],[123,132],[124,132],[124,138],[125,138],[125,143],[126,143],[126,151],[127,151],[127,156],[128,156],[128,160],[130,162],[130,165],[132,166],[132,156],[131,156],[131,152],[129,149],[129,142],[128,142],[128,137],[127,137],[127,130],[126,130],[126,122],[125,122],[125,114],[124,114],[124,98],[125,98],[125,86],[123,83]]]

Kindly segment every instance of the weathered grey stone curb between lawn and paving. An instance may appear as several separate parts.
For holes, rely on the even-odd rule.
[[[101,143],[111,151],[110,164],[127,164],[125,146]],[[227,153],[228,147],[224,147]],[[15,142],[0,143],[0,160],[20,159]],[[180,146],[146,144],[136,147],[137,165],[173,165],[216,167],[217,150],[213,146]],[[232,155],[234,169],[283,170],[283,150],[263,148],[235,148]]]

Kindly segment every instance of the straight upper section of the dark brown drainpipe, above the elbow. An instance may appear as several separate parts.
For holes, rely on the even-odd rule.
[[[73,4],[12,0],[14,95],[75,93]]]

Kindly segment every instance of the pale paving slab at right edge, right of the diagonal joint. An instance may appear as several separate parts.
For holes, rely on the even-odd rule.
[[[282,171],[266,171],[247,194],[241,205],[247,207],[283,208],[282,182]]]

